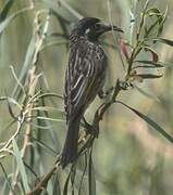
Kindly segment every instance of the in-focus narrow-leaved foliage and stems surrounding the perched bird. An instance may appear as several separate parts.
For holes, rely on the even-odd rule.
[[[99,136],[100,121],[104,119],[106,112],[118,104],[132,110],[168,141],[173,142],[171,134],[156,121],[121,100],[123,92],[133,93],[134,89],[148,98],[153,98],[153,94],[147,93],[139,84],[146,80],[161,78],[163,74],[158,74],[158,69],[172,66],[170,62],[161,62],[155,50],[158,43],[173,47],[172,40],[161,37],[168,8],[161,12],[149,0],[143,1],[144,6],[139,0],[134,2],[138,11],[131,10],[134,20],[131,21],[129,38],[113,35],[114,42],[120,46],[118,52],[124,76],[118,76],[118,79],[114,77],[115,86],[110,86],[110,89],[106,91],[106,99],[98,105],[92,121],[82,122],[84,131],[78,140],[78,155],[74,164],[65,170],[62,170],[59,162],[61,147],[58,133],[61,134],[61,132],[57,133],[54,130],[54,127],[61,127],[64,122],[64,112],[57,103],[62,103],[63,98],[61,92],[54,93],[49,88],[49,78],[46,77],[40,56],[45,50],[52,47],[59,48],[61,44],[67,47],[70,25],[83,15],[61,0],[29,0],[26,8],[12,13],[14,0],[3,3],[0,14],[1,40],[11,23],[23,14],[32,14],[33,28],[22,67],[16,72],[13,65],[10,66],[15,80],[13,90],[10,95],[5,90],[4,95],[0,96],[0,103],[7,103],[8,115],[11,117],[3,132],[15,129],[0,147],[0,165],[4,176],[2,194],[97,194],[98,180],[92,160],[94,143]],[[108,6],[111,12],[110,1],[108,1]],[[67,14],[64,14],[66,12]],[[59,23],[62,32],[52,32],[53,20]],[[111,14],[110,22],[114,22]],[[116,49],[116,46],[104,40],[102,43],[113,50]],[[10,173],[3,162],[8,157],[13,164]],[[51,167],[48,170],[46,170],[45,160],[51,160]]]

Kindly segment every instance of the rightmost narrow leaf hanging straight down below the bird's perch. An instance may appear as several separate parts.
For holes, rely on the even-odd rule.
[[[96,179],[95,179],[95,171],[92,165],[92,148],[90,148],[89,153],[89,162],[88,162],[88,187],[89,187],[89,195],[96,195]]]

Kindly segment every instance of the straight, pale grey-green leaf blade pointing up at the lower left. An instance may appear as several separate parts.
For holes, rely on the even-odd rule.
[[[17,143],[16,143],[15,139],[12,140],[12,144],[13,144],[13,151],[14,151],[14,156],[15,156],[15,159],[16,159],[17,168],[18,168],[18,171],[21,172],[22,182],[23,182],[24,190],[25,190],[25,193],[26,193],[26,192],[30,191],[30,187],[28,185],[28,180],[27,180],[25,166],[24,166],[23,159],[21,157],[21,152],[20,152],[20,148],[17,146]]]

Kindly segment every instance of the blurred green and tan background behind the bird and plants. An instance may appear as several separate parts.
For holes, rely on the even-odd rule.
[[[15,0],[8,16],[14,12],[29,6],[29,0]],[[65,3],[64,3],[65,2]],[[39,53],[38,72],[42,73],[45,82],[40,83],[52,93],[63,94],[64,72],[69,57],[67,40],[61,36],[66,35],[72,23],[81,16],[99,17],[104,22],[116,24],[125,34],[123,38],[129,40],[131,10],[143,8],[145,0],[38,0],[36,10],[53,9],[58,17],[50,18],[48,37],[45,48]],[[2,10],[5,0],[0,0]],[[173,1],[152,0],[151,5],[164,11],[168,4],[169,15],[161,37],[173,40]],[[134,15],[135,16],[135,15]],[[58,20],[58,18],[63,20]],[[45,16],[40,21],[45,21]],[[66,22],[64,22],[66,20]],[[137,20],[137,18],[136,18]],[[15,79],[10,66],[13,66],[17,77],[26,60],[28,44],[33,36],[35,11],[27,11],[15,17],[5,28],[0,38],[0,96],[13,95]],[[64,24],[66,27],[64,27]],[[104,36],[104,41],[114,43],[112,34]],[[49,47],[49,43],[52,43]],[[106,89],[114,84],[118,78],[123,78],[124,70],[116,48],[104,47],[109,56],[109,73]],[[162,62],[173,62],[173,50],[164,44],[155,48]],[[145,56],[144,56],[145,57]],[[136,108],[157,121],[164,130],[173,134],[173,72],[164,70],[160,79],[145,81],[139,84],[157,99],[144,96],[137,90],[122,92],[120,100]],[[13,96],[15,99],[15,95]],[[15,99],[16,100],[16,99]],[[20,100],[20,99],[18,99]],[[52,103],[53,102],[53,103]],[[52,118],[60,118],[63,112],[63,101],[53,99],[47,105],[53,105],[59,112],[50,112]],[[96,99],[86,113],[86,118],[91,121],[97,106],[102,101]],[[14,113],[17,113],[14,107]],[[62,117],[63,118],[63,117]],[[12,118],[9,115],[8,103],[0,102],[0,142],[3,143],[14,133],[14,123],[8,130]],[[50,121],[54,135],[50,138],[49,129],[40,129],[40,139],[54,151],[60,152],[65,139],[65,121],[63,119]],[[24,129],[23,129],[24,130]],[[51,167],[54,156],[42,153],[42,172]],[[97,194],[99,195],[172,195],[173,192],[173,145],[151,129],[139,117],[121,105],[112,106],[100,123],[100,135],[95,141],[94,167],[97,180]],[[2,159],[8,173],[12,172],[11,157]],[[4,176],[0,169],[0,185],[3,185]],[[0,187],[1,188],[1,187]]]

